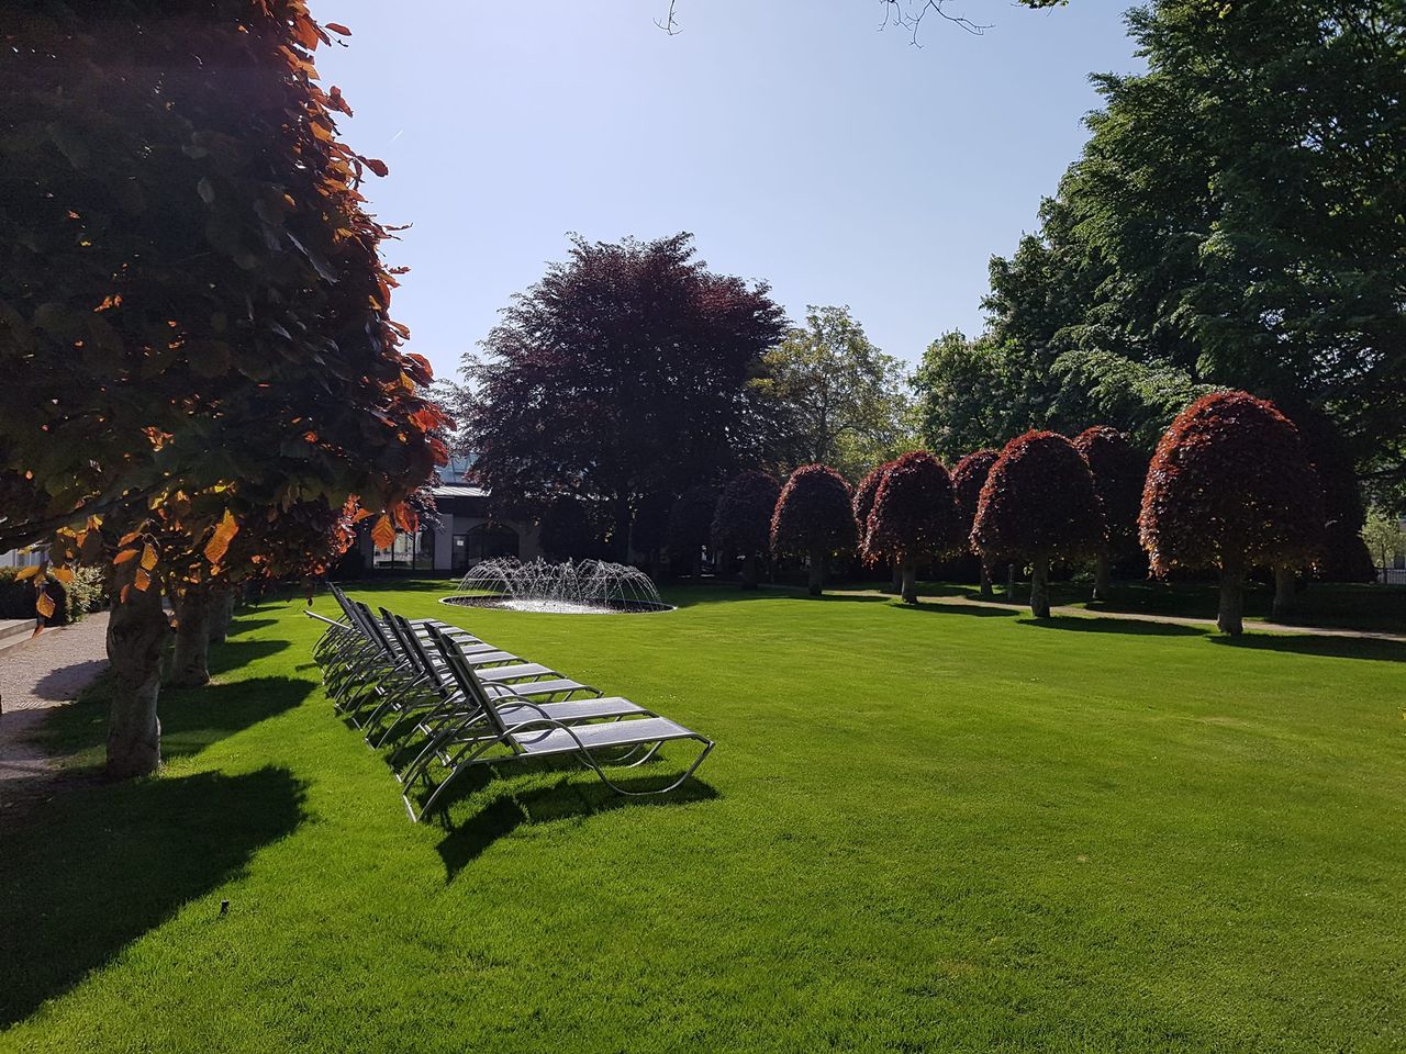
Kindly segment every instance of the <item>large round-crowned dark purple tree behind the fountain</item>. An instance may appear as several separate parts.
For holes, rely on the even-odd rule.
[[[692,236],[574,238],[465,357],[460,441],[495,496],[529,506],[574,490],[609,506],[623,555],[631,510],[761,461],[748,379],[780,340],[765,285],[714,274]]]

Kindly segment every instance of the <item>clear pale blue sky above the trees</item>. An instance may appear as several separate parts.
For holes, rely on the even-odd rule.
[[[692,230],[718,271],[770,282],[792,318],[848,304],[910,361],[981,329],[987,260],[1035,225],[1087,138],[1087,74],[1140,67],[1125,0],[1028,11],[949,4],[922,48],[877,0],[314,0],[347,48],[319,49],[347,142],[381,157],[366,193],[412,223],[392,264],[411,350],[439,375],[569,230]]]

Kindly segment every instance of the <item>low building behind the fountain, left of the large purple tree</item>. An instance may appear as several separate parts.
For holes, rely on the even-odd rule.
[[[454,457],[439,471],[433,488],[439,528],[396,533],[387,549],[375,548],[370,531],[361,530],[357,547],[368,571],[461,575],[494,557],[534,559],[540,554],[534,524],[489,514],[488,492],[464,481],[470,465],[472,458]]]

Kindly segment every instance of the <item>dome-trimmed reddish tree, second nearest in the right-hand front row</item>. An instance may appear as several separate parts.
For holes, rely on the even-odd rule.
[[[972,544],[991,559],[1031,565],[1031,613],[1049,618],[1050,561],[1091,557],[1105,544],[1094,475],[1074,444],[1026,431],[1005,444],[981,486]]]

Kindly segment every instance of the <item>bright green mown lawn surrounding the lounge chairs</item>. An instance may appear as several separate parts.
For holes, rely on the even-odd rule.
[[[700,779],[517,770],[415,826],[316,627],[254,607],[163,697],[160,777],[0,832],[0,1050],[1406,1048],[1406,646],[444,590],[377,600],[716,738]]]

